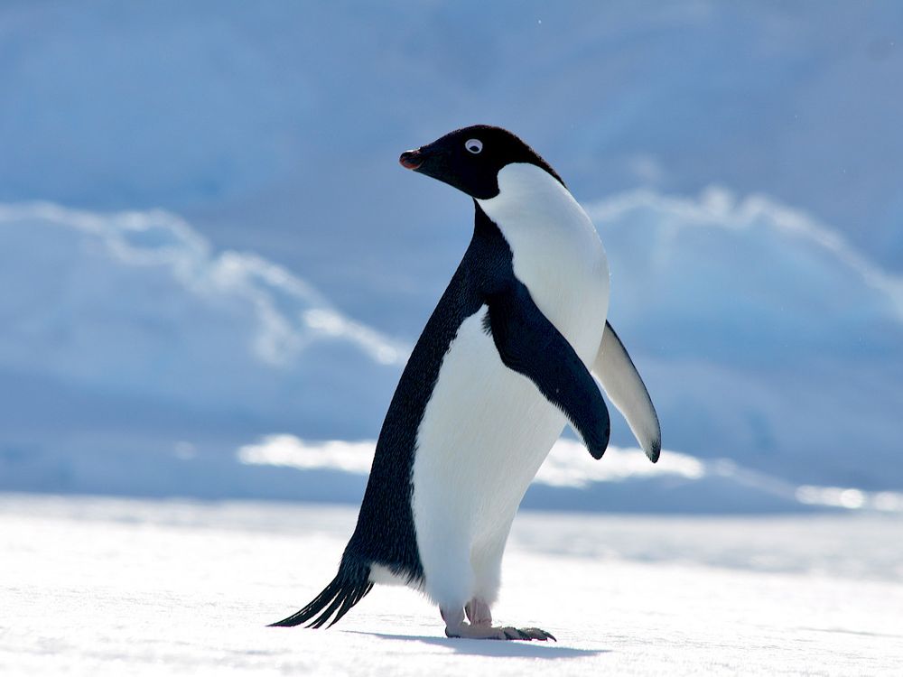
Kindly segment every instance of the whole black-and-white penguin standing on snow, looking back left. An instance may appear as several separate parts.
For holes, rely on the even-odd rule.
[[[389,404],[338,574],[272,625],[332,625],[387,583],[430,598],[449,637],[554,639],[492,621],[526,488],[567,423],[594,459],[605,452],[596,379],[653,463],[661,450],[646,385],[607,320],[605,250],[561,177],[506,129],[465,127],[399,161],[473,200],[473,236]]]

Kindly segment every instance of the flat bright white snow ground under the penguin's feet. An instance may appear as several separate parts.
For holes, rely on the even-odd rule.
[[[897,674],[898,515],[525,513],[496,609],[557,644],[449,640],[406,589],[266,628],[330,580],[346,507],[0,495],[0,673]]]

